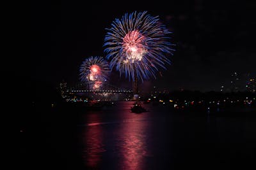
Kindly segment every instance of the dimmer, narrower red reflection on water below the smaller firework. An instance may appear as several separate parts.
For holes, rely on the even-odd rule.
[[[90,114],[87,118],[92,122],[95,119],[100,119],[98,114]],[[98,167],[102,159],[102,152],[106,151],[103,144],[102,130],[102,126],[97,124],[86,127],[84,134],[84,142],[86,143],[84,159],[86,159],[86,166],[88,167]]]

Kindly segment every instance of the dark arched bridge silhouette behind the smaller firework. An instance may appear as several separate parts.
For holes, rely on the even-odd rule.
[[[83,93],[123,93],[132,94],[131,89],[116,87],[115,85],[109,84],[107,81],[100,83],[99,88],[93,88],[95,82],[87,81],[84,83],[77,83],[74,87],[67,89],[66,92],[83,92]]]

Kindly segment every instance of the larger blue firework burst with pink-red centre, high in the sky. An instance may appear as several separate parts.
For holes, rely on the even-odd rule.
[[[164,65],[170,64],[166,54],[174,51],[168,36],[171,32],[158,17],[151,17],[147,11],[126,13],[111,26],[105,36],[104,52],[110,68],[115,67],[120,76],[141,81],[156,78],[159,67],[166,69]]]

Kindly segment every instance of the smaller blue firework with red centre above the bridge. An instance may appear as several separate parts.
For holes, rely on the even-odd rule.
[[[101,81],[105,81],[109,74],[109,65],[103,57],[89,57],[83,61],[79,69],[80,80],[92,81],[93,89],[98,89]]]

